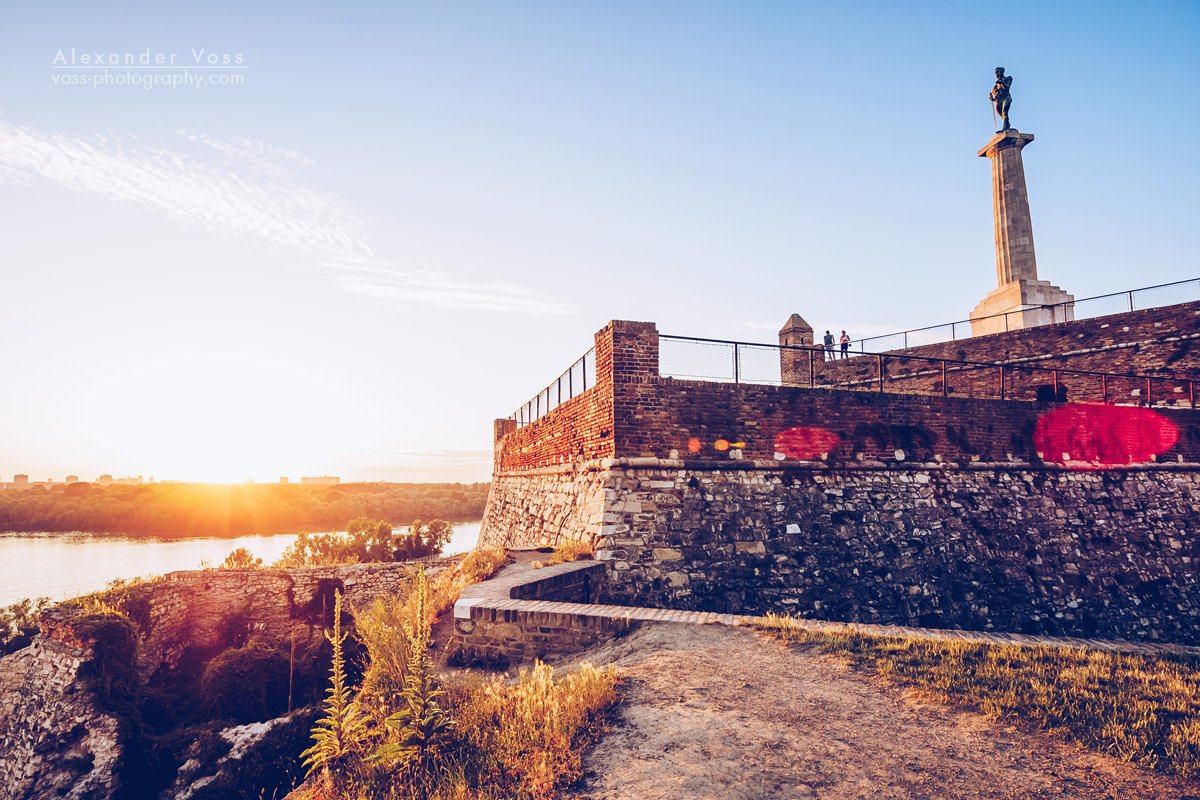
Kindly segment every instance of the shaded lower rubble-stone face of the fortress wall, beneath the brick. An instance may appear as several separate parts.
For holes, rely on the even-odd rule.
[[[1200,644],[1194,465],[664,461],[596,481],[600,602]]]

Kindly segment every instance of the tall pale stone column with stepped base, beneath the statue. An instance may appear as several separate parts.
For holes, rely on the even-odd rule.
[[[980,157],[991,160],[997,288],[971,312],[974,336],[1062,323],[1075,317],[1073,306],[1060,305],[1070,303],[1074,297],[1038,279],[1033,219],[1021,161],[1021,150],[1030,142],[1033,142],[1032,133],[1010,130],[994,136],[979,151]]]

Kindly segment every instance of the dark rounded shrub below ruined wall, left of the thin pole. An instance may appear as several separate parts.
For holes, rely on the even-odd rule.
[[[200,694],[212,716],[239,723],[287,711],[288,657],[259,640],[226,650],[209,662]]]

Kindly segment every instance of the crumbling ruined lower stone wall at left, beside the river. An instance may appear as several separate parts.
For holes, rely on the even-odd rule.
[[[323,634],[334,593],[362,607],[406,585],[403,564],[295,570],[172,572],[139,591],[138,670],[174,669],[187,648],[218,646],[230,624],[276,645]],[[68,613],[50,608],[30,646],[0,658],[0,800],[103,799],[115,790],[118,721],[104,714],[79,670],[94,642],[78,638]]]

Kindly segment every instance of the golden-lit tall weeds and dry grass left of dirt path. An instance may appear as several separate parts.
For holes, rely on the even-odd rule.
[[[475,551],[432,581],[418,572],[406,595],[356,614],[368,664],[350,699],[335,658],[326,716],[313,732],[320,741],[306,752],[307,800],[550,800],[580,777],[582,748],[617,700],[612,669],[556,675],[538,663],[510,681],[448,688],[430,662],[439,610],[505,559],[502,549]],[[342,638],[335,630],[330,640]],[[350,706],[361,724],[337,739]]]

